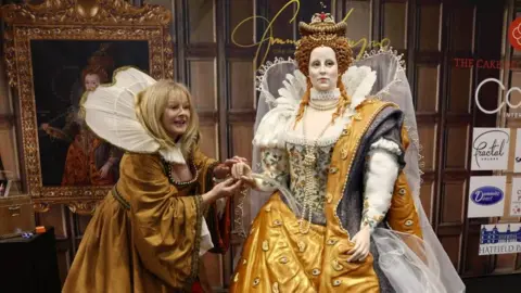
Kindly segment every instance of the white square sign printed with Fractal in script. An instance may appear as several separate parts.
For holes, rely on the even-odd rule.
[[[510,148],[510,128],[474,128],[472,170],[506,170]]]

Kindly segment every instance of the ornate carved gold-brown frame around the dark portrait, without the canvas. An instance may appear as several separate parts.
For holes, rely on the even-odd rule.
[[[171,78],[171,13],[161,5],[136,8],[124,0],[47,0],[39,5],[5,5],[2,17],[9,84],[20,99],[25,189],[37,212],[63,203],[75,213],[89,214],[110,187],[42,186],[30,40],[147,40],[151,76]]]

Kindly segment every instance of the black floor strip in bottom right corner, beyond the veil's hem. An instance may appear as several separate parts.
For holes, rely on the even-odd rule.
[[[466,293],[521,293],[521,273],[463,279]]]

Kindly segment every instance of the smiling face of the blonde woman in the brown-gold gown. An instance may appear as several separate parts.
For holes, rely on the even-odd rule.
[[[174,141],[187,132],[190,124],[190,101],[187,95],[168,98],[162,123]]]

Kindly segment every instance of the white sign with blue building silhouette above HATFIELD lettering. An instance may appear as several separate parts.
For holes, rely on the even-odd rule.
[[[521,224],[482,225],[480,255],[521,253]]]

